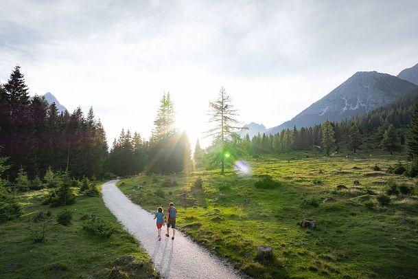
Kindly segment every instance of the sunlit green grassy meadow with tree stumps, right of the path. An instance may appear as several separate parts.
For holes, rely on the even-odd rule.
[[[140,175],[119,187],[147,210],[174,202],[183,232],[255,278],[413,278],[418,274],[416,181],[385,172],[399,159],[369,153],[264,156],[248,160],[251,177],[195,170]],[[373,170],[375,165],[381,170]],[[256,188],[265,175],[277,186]],[[198,177],[202,188],[194,187]],[[390,205],[380,207],[376,198],[390,178],[415,192],[391,197]],[[165,187],[167,179],[178,185]],[[340,184],[347,189],[338,190]],[[331,201],[323,203],[327,197]],[[315,219],[318,227],[299,227],[303,217]],[[272,246],[275,260],[257,260],[257,245]]]

